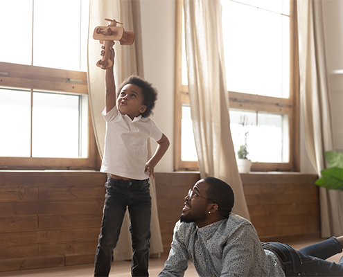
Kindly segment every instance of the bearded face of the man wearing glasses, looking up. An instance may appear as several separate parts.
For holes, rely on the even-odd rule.
[[[195,222],[198,227],[203,225],[203,222],[205,222],[208,217],[207,206],[209,200],[206,199],[206,189],[208,186],[209,185],[203,180],[197,181],[193,186],[193,189],[190,190],[191,195],[188,194],[184,197],[186,202],[184,203],[184,208],[180,215],[181,222]]]

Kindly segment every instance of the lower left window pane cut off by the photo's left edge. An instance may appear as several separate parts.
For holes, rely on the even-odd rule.
[[[0,89],[0,157],[30,157],[30,91]]]

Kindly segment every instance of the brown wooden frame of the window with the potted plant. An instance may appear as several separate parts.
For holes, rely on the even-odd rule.
[[[197,161],[181,159],[182,105],[189,105],[188,86],[182,84],[182,9],[183,0],[175,1],[175,118],[174,170],[198,170]],[[229,105],[233,109],[267,111],[288,114],[288,163],[252,163],[252,171],[300,171],[299,132],[299,57],[297,39],[297,0],[290,0],[290,97],[276,98],[229,91]]]

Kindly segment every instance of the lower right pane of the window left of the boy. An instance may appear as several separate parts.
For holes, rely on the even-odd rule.
[[[33,93],[33,157],[80,157],[80,97]]]

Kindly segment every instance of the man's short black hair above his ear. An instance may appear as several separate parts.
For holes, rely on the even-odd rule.
[[[234,191],[229,184],[214,177],[204,178],[209,187],[206,190],[207,197],[218,204],[218,211],[223,217],[229,217],[234,206]]]

